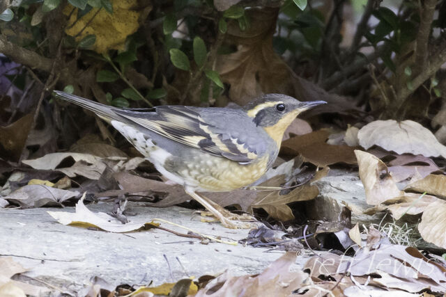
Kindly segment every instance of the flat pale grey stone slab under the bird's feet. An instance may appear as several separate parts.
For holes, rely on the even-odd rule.
[[[112,211],[112,203],[87,207],[92,211]],[[181,207],[157,209],[129,202],[127,209],[136,214],[130,216],[130,220],[163,218],[196,232],[220,236],[222,240],[245,239],[249,232],[229,230],[220,223],[203,223],[199,216]],[[29,268],[26,275],[63,291],[77,292],[89,287],[94,276],[116,285],[144,285],[151,281],[157,285],[176,282],[188,275],[215,275],[226,269],[233,275],[254,274],[263,271],[283,253],[240,243],[236,246],[215,242],[202,244],[199,239],[158,229],[119,234],[66,226],[47,214],[47,211],[59,210],[74,212],[74,207],[0,209],[0,254],[10,255]],[[187,232],[165,223],[161,225]],[[300,268],[305,259],[301,256],[295,268]]]

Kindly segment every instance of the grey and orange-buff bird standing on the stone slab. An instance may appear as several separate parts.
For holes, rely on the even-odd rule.
[[[200,192],[232,191],[254,183],[272,167],[284,131],[296,116],[327,103],[266,94],[245,106],[165,105],[137,111],[59,90],[54,93],[109,122],[162,175],[181,184],[228,228],[238,227],[231,222],[231,213]]]

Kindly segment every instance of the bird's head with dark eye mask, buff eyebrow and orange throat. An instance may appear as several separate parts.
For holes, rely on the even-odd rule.
[[[263,127],[272,139],[280,144],[286,128],[295,117],[325,101],[300,102],[282,94],[267,94],[254,99],[243,107],[247,115],[259,127]]]

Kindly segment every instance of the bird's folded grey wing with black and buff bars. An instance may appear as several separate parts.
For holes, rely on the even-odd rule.
[[[250,163],[265,151],[252,120],[238,109],[159,106],[154,113],[116,110],[118,115],[178,143],[215,156]],[[236,121],[236,122],[234,122]],[[249,131],[246,131],[249,130]],[[240,133],[241,131],[245,133]],[[251,136],[249,136],[251,134]]]

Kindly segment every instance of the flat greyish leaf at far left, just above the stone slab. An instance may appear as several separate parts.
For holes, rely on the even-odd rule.
[[[43,206],[62,206],[62,202],[65,200],[79,195],[79,191],[62,190],[43,184],[29,184],[18,188],[3,198],[26,209]]]

